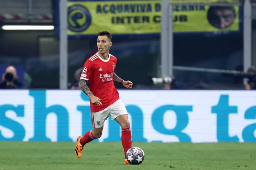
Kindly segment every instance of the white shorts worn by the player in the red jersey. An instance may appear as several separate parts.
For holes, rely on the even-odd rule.
[[[116,117],[122,114],[128,114],[128,112],[122,100],[118,99],[116,100],[116,102],[114,102],[112,105],[108,106],[108,108],[105,108],[102,111],[91,112],[93,128],[102,127],[105,120],[107,120],[109,116],[111,116],[111,120],[114,120],[116,119]]]

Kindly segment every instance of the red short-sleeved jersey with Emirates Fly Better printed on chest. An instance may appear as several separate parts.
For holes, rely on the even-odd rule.
[[[102,99],[102,105],[93,105],[90,100],[92,112],[99,112],[112,105],[119,99],[119,94],[113,82],[113,74],[116,69],[116,57],[108,54],[108,59],[99,57],[98,52],[84,63],[80,79],[89,82],[90,91],[94,96]]]

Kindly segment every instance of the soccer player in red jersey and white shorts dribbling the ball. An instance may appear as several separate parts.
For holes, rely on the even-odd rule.
[[[111,116],[122,128],[122,146],[126,153],[131,148],[131,128],[128,120],[128,112],[119,99],[119,94],[114,82],[132,88],[132,82],[124,81],[116,73],[116,57],[109,54],[112,46],[111,34],[108,31],[98,33],[98,52],[87,59],[84,70],[81,73],[79,87],[90,98],[91,120],[93,130],[89,130],[84,136],[77,138],[75,153],[78,158],[82,156],[84,145],[102,136],[104,122]],[[86,82],[89,82],[89,87]],[[124,159],[124,164],[129,164]]]

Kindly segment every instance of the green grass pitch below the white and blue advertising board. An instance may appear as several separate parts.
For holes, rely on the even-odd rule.
[[[123,164],[121,142],[0,142],[0,170],[256,170],[256,143],[137,143],[140,165]]]

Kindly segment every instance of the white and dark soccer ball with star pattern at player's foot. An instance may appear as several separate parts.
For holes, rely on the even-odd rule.
[[[140,147],[131,147],[125,155],[130,164],[141,164],[145,158],[145,153]]]

